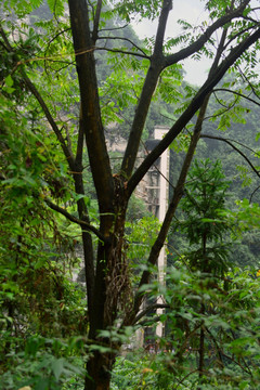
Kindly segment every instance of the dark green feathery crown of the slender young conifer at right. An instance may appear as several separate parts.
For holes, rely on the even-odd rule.
[[[232,225],[223,211],[229,185],[220,161],[194,161],[181,202],[185,220],[177,223],[188,239],[187,261],[193,270],[216,274],[227,270],[230,246],[223,238]]]

